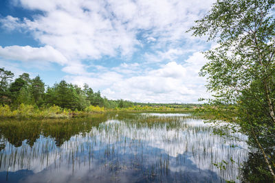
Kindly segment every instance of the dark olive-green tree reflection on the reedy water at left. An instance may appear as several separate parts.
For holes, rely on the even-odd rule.
[[[60,147],[76,134],[89,132],[107,121],[111,114],[94,114],[92,117],[78,119],[5,119],[0,123],[1,137],[7,139],[15,147],[23,141],[32,146],[40,135],[55,138]]]

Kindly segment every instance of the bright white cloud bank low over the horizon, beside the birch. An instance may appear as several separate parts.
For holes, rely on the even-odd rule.
[[[67,80],[80,86],[86,82],[95,90],[104,88],[102,95],[109,99],[191,103],[197,102],[201,97],[209,97],[204,87],[205,79],[198,76],[199,69],[205,63],[206,60],[201,53],[194,53],[184,64],[168,62],[159,69],[151,69],[135,75],[131,75],[133,72],[131,66],[122,64],[115,68],[115,72],[106,71],[91,76],[68,76]],[[138,67],[140,65],[137,65],[135,70],[139,70]],[[120,74],[124,69],[129,71],[129,74]]]

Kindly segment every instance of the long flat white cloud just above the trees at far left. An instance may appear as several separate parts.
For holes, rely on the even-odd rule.
[[[67,63],[67,59],[63,54],[48,45],[45,47],[0,46],[0,57],[5,60],[37,62],[38,64],[42,64],[43,62],[56,62],[63,65]]]

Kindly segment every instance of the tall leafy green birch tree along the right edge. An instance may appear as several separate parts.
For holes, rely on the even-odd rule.
[[[263,156],[261,169],[274,174],[275,145],[275,19],[273,0],[217,1],[189,31],[208,36],[218,44],[204,54],[209,60],[200,75],[208,77],[207,88],[217,111],[236,106],[234,117],[248,135],[252,151]],[[219,113],[221,114],[221,113]],[[272,149],[273,148],[273,149]],[[261,171],[261,173],[266,173]],[[258,171],[260,173],[260,171]],[[259,176],[266,182],[265,175]],[[253,180],[254,182],[254,180]]]

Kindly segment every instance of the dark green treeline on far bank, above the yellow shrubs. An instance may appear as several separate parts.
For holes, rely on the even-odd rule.
[[[23,73],[14,79],[14,73],[4,68],[0,68],[0,103],[2,106],[8,105],[14,110],[19,108],[21,103],[37,106],[37,108],[59,106],[71,110],[85,110],[88,106],[104,108],[130,108],[133,106],[193,108],[197,106],[177,103],[137,103],[123,99],[109,100],[102,97],[99,90],[94,92],[88,84],[84,84],[83,88],[80,88],[76,84],[69,84],[62,80],[52,87],[45,87],[45,83],[39,75],[30,78],[28,73]]]

